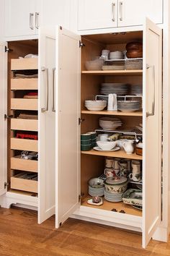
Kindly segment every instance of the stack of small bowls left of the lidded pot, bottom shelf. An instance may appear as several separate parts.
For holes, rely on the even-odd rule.
[[[104,195],[104,180],[93,178],[89,180],[89,195],[102,197]]]

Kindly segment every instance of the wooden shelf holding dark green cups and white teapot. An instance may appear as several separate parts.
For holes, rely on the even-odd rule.
[[[81,154],[85,155],[102,155],[102,156],[109,156],[113,158],[128,158],[128,159],[134,159],[134,160],[142,160],[142,155],[136,155],[136,153],[133,153],[131,155],[128,155],[125,153],[124,150],[117,150],[117,151],[97,151],[97,150],[89,150],[89,151],[81,151]]]

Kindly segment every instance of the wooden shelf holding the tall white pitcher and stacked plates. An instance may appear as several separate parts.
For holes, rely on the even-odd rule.
[[[81,114],[112,115],[112,116],[143,116],[143,112],[121,112],[121,111],[89,111],[89,110],[82,110]]]

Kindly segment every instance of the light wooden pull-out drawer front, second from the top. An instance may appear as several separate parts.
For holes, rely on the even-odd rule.
[[[11,90],[37,90],[37,78],[12,78]]]

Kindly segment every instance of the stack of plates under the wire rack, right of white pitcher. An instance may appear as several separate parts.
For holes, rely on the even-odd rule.
[[[141,108],[141,101],[117,101],[117,109],[122,112],[134,112]]]

